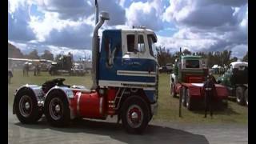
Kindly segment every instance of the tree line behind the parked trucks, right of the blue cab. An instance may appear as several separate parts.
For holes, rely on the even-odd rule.
[[[174,63],[175,59],[179,57],[180,52],[174,52],[174,54],[170,53],[169,49],[166,49],[162,46],[157,46],[157,58],[158,63],[160,66],[166,66],[167,63]],[[238,61],[237,57],[232,57],[231,50],[223,50],[223,51],[215,51],[215,52],[195,52],[192,53],[190,50],[182,50],[182,54],[190,54],[190,55],[200,55],[202,58],[206,59],[206,64],[208,67],[212,67],[214,65],[218,66],[228,66],[230,62],[236,62]],[[246,52],[246,55],[242,58],[243,62],[248,62],[248,51]]]

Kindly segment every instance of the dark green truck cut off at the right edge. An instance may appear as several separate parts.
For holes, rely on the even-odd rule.
[[[231,62],[225,74],[217,78],[217,83],[226,86],[238,104],[248,106],[248,62]]]

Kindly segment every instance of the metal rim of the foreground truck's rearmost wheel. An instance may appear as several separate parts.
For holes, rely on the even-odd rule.
[[[27,118],[32,112],[32,99],[28,95],[23,95],[19,101],[18,109],[23,117]]]

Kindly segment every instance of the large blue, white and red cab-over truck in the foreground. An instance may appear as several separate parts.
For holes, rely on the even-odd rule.
[[[38,121],[42,114],[53,126],[66,126],[74,118],[106,119],[118,116],[128,132],[142,133],[158,108],[157,37],[152,30],[104,30],[101,46],[98,29],[105,20],[96,5],[93,34],[92,80],[89,89],[68,86],[58,78],[42,86],[25,85],[14,94],[13,113],[20,122]],[[101,50],[99,50],[101,48]]]

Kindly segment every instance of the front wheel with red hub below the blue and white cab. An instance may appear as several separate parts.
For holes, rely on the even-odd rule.
[[[128,133],[142,134],[150,119],[150,110],[146,102],[138,96],[132,96],[127,98],[123,104],[122,126]],[[134,118],[132,118],[133,114]]]

